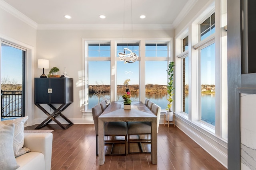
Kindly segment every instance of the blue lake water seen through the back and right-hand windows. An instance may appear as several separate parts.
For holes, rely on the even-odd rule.
[[[167,95],[163,94],[146,94],[146,98],[161,107],[162,110],[166,109]],[[110,99],[110,93],[104,94],[101,101]],[[202,120],[215,126],[215,95],[214,94],[202,94]],[[118,101],[122,101],[122,96]],[[139,101],[139,97],[136,94],[132,95],[132,101]],[[144,102],[144,101],[143,101]],[[98,97],[94,94],[89,94],[89,109],[98,104]],[[188,113],[188,96],[185,97],[185,112]]]

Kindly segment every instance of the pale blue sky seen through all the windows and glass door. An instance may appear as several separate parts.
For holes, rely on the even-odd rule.
[[[201,84],[215,84],[214,49],[215,44],[201,50]],[[110,54],[109,51],[106,53]],[[106,56],[105,54],[102,55]],[[146,55],[154,56],[156,51],[147,51]],[[22,84],[22,50],[4,45],[2,46],[1,60],[2,78],[8,77],[10,80],[15,80],[17,84]],[[187,61],[186,70],[188,70]],[[146,61],[145,65],[146,84],[167,84],[167,61]],[[124,64],[124,61],[117,61],[116,67],[118,85],[122,85],[126,79],[130,79],[129,84],[139,84],[139,62]],[[187,76],[188,74],[186,74],[186,84],[188,84]],[[89,84],[96,84],[96,82],[98,84],[110,84],[110,61],[89,62]]]

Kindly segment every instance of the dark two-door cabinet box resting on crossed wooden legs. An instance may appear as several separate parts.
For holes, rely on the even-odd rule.
[[[35,104],[73,102],[73,78],[35,78]]]

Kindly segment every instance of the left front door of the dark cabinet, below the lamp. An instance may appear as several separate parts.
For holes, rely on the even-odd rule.
[[[35,78],[35,104],[50,103],[48,88],[49,78]]]

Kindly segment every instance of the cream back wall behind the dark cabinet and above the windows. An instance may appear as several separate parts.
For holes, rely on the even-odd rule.
[[[74,102],[63,111],[73,123],[93,123],[91,113],[82,114],[82,38],[98,38],[106,40],[109,38],[122,38],[122,30],[38,30],[37,31],[37,59],[49,59],[49,67],[66,67],[68,76],[74,78]],[[130,37],[128,30],[125,36]],[[173,30],[133,30],[133,37],[150,38],[173,37]],[[45,69],[48,74],[49,69]],[[36,77],[42,74],[42,69],[36,69]],[[52,111],[53,110],[49,110]],[[37,107],[34,107],[34,123],[41,123],[46,115]],[[58,119],[58,117],[57,117]],[[62,119],[58,119],[63,122]],[[65,121],[64,121],[65,122]]]

